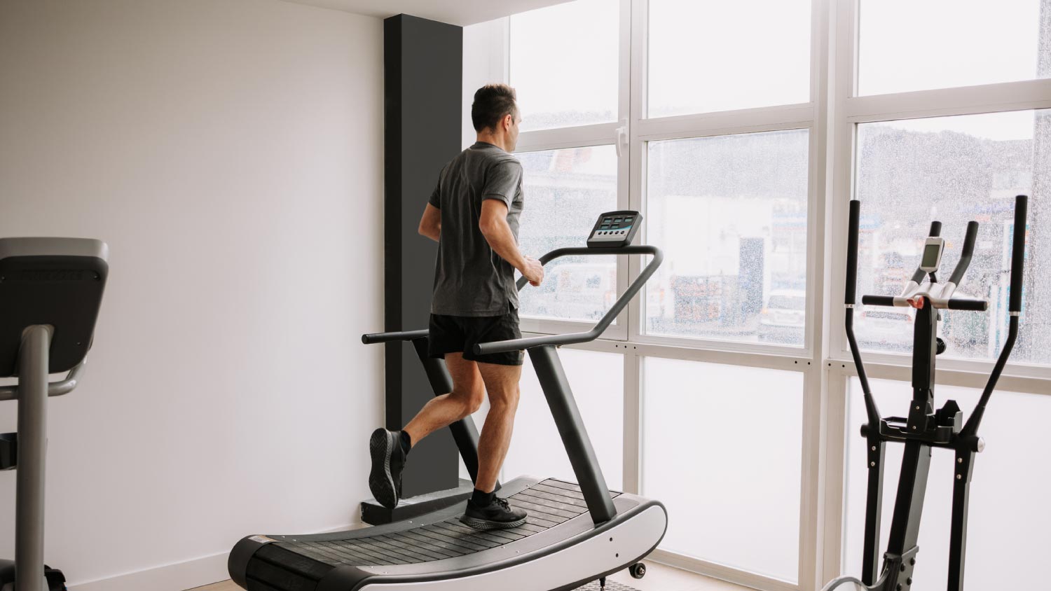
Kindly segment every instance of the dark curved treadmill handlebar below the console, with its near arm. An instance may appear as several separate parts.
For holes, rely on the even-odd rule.
[[[583,333],[572,333],[568,335],[543,335],[539,337],[526,337],[520,339],[511,339],[504,341],[493,341],[493,342],[482,342],[474,345],[475,355],[489,355],[492,353],[504,353],[508,351],[520,351],[523,349],[532,349],[535,346],[543,345],[563,345],[573,344],[578,342],[588,342],[597,339],[606,328],[613,323],[614,318],[627,305],[627,302],[635,297],[635,294],[639,293],[642,286],[650,279],[650,277],[657,271],[660,263],[664,260],[664,253],[655,246],[643,245],[643,246],[632,246],[632,247],[620,247],[615,249],[593,249],[593,248],[565,248],[556,249],[548,254],[540,257],[540,263],[547,265],[551,260],[554,260],[561,256],[570,255],[617,255],[617,254],[651,254],[653,258],[650,259],[650,263],[646,265],[645,269],[639,273],[639,276],[632,281],[632,284],[627,287],[624,293],[617,298],[617,301],[613,302],[610,310],[599,319],[595,326]],[[518,279],[518,289],[521,290],[526,283],[527,279],[521,277]]]

